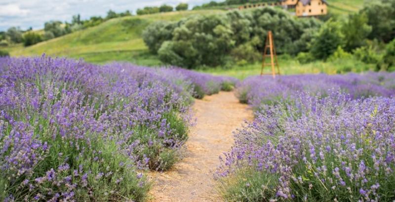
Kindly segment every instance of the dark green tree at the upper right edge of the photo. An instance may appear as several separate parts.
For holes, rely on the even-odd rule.
[[[360,13],[366,13],[367,24],[372,26],[369,39],[389,42],[395,37],[395,0],[369,1]]]

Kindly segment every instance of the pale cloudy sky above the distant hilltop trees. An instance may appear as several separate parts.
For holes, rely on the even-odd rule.
[[[29,27],[42,29],[44,22],[49,20],[71,21],[75,14],[82,19],[90,16],[106,16],[108,10],[116,12],[130,10],[135,13],[137,8],[148,5],[177,5],[187,2],[192,8],[210,0],[0,0],[0,31],[9,27]],[[219,1],[219,0],[216,0]]]

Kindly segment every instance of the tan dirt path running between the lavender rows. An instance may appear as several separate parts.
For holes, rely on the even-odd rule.
[[[252,120],[247,105],[240,104],[233,92],[221,92],[196,100],[197,125],[186,143],[186,157],[170,171],[152,172],[153,202],[221,201],[215,191],[213,170],[218,157],[233,143],[232,132],[244,120]]]

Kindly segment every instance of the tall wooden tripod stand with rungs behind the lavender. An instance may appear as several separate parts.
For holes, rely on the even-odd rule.
[[[270,64],[266,64],[266,57],[269,57],[269,55],[267,55],[268,48],[270,50],[270,60],[271,60]],[[266,42],[265,42],[265,50],[263,52],[263,62],[262,62],[261,76],[264,75],[263,69],[266,66],[269,66],[269,65],[272,67],[272,73],[267,74],[267,75],[273,75],[273,78],[276,78],[276,74],[280,75],[280,67],[278,67],[276,47],[275,47],[275,43],[273,41],[273,33],[272,33],[272,31],[268,32],[268,37],[266,38]],[[275,65],[277,67],[277,72],[276,72]]]

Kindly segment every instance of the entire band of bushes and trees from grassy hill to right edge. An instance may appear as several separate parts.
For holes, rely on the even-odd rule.
[[[277,53],[297,56],[302,63],[356,57],[377,64],[378,70],[388,70],[394,64],[391,46],[395,42],[389,43],[395,36],[394,8],[395,0],[381,0],[345,20],[332,17],[326,22],[296,18],[271,7],[198,15],[151,24],[143,39],[163,63],[215,67],[260,60],[271,30]]]

